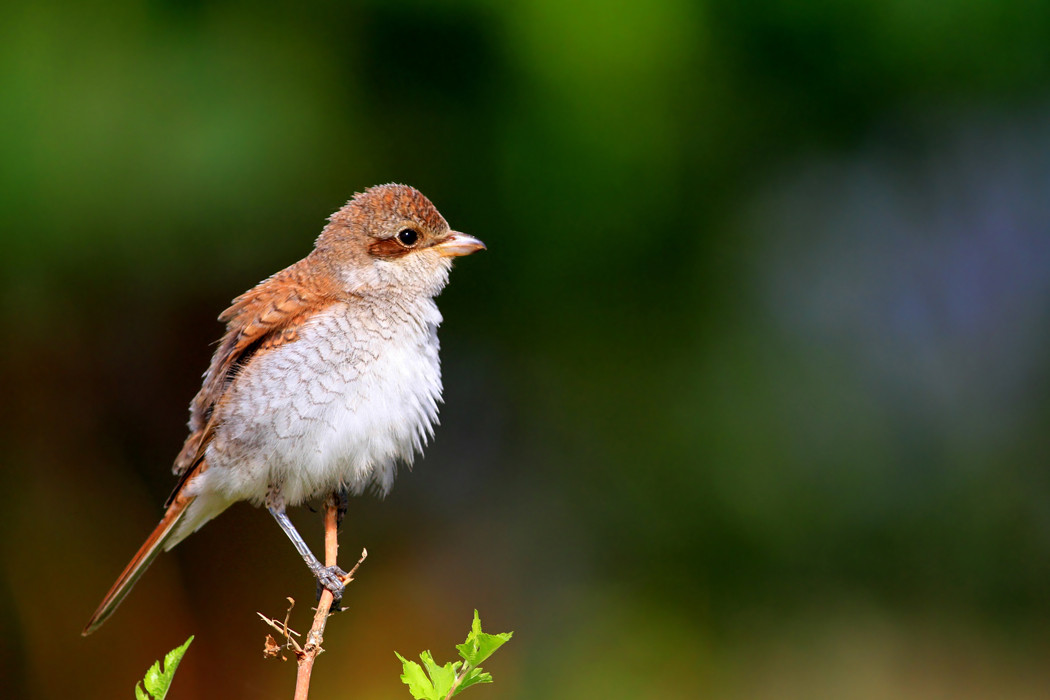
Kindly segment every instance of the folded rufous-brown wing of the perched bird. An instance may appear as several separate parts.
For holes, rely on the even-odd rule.
[[[226,322],[226,335],[211,358],[204,385],[190,404],[190,436],[172,469],[182,479],[169,502],[202,463],[216,427],[215,407],[237,372],[257,353],[295,341],[310,316],[338,300],[338,289],[319,274],[317,266],[308,264],[309,259],[242,294],[218,317]]]

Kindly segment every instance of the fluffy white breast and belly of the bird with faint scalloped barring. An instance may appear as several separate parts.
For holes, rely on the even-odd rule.
[[[319,314],[235,379],[194,490],[259,502],[280,484],[289,505],[340,483],[386,492],[437,423],[440,322],[429,298]]]

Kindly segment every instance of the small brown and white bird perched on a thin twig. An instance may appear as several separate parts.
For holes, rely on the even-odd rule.
[[[238,501],[266,505],[319,584],[342,597],[286,514],[370,485],[434,436],[441,400],[434,301],[453,258],[485,245],[448,228],[418,190],[381,185],[329,217],[314,250],[233,300],[226,334],[190,404],[178,483],[160,525],[83,634],[117,609],[161,550]]]

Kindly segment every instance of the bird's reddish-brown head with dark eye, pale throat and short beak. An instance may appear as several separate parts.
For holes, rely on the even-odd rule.
[[[433,296],[448,280],[454,257],[485,245],[453,231],[423,194],[406,185],[360,192],[329,217],[317,252],[348,289]]]

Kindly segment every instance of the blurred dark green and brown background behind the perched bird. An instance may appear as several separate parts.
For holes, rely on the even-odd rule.
[[[0,695],[289,698],[313,582],[155,524],[242,291],[384,182],[489,250],[314,692],[407,698],[475,608],[524,698],[1046,698],[1050,4],[0,6]],[[320,517],[293,518],[320,543]]]

